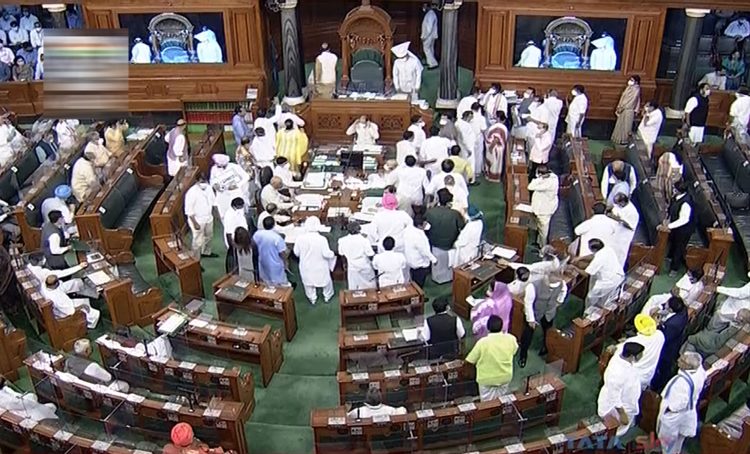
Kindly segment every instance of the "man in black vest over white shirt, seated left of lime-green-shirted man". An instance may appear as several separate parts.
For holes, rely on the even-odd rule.
[[[430,347],[430,359],[455,358],[459,354],[459,339],[466,335],[464,325],[455,315],[448,313],[448,299],[437,298],[432,302],[435,314],[427,317],[422,326],[422,338]]]

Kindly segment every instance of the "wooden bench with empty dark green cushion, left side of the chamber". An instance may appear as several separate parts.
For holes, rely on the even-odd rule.
[[[123,160],[107,184],[76,212],[81,240],[96,241],[104,252],[116,257],[130,254],[135,231],[162,189],[161,176],[142,175],[132,158]]]

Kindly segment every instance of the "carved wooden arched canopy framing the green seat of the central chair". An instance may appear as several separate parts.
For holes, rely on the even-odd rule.
[[[391,16],[382,8],[370,5],[367,0],[349,11],[339,27],[344,71],[342,85],[346,86],[349,82],[352,55],[363,49],[375,50],[383,55],[385,81],[386,85],[390,84],[394,29]]]

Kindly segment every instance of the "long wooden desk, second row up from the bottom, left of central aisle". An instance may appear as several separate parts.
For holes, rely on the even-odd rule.
[[[255,408],[253,374],[242,374],[236,367],[207,366],[174,359],[156,360],[139,356],[117,341],[117,336],[104,334],[96,340],[102,364],[114,376],[131,386],[139,386],[162,394],[172,394],[175,386],[188,388],[208,402],[213,397],[245,404],[243,418],[249,418]]]

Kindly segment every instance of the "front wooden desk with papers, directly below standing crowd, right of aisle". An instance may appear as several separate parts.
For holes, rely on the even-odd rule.
[[[372,318],[383,314],[424,314],[424,291],[414,282],[382,287],[380,291],[341,290],[341,326],[361,318]]]

